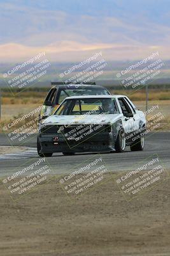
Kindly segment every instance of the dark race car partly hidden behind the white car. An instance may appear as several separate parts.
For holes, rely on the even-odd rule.
[[[52,115],[60,103],[69,96],[78,95],[109,95],[110,92],[103,86],[96,85],[95,82],[91,83],[65,83],[65,82],[52,82],[52,88],[45,98],[45,102],[39,113],[39,122],[48,116]]]

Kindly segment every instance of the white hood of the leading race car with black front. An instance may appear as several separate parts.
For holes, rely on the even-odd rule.
[[[75,124],[113,124],[123,115],[81,115],[81,116],[57,116],[52,115],[46,118],[43,125],[75,125]]]

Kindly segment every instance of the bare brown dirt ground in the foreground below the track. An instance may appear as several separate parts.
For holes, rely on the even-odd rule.
[[[56,180],[14,203],[0,185],[0,255],[170,255],[167,179],[126,201],[113,179],[70,201]]]

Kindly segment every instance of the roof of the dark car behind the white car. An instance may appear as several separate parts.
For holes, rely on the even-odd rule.
[[[93,85],[93,84],[56,84],[55,86],[52,86],[52,88],[60,88],[60,89],[70,89],[70,90],[78,90],[80,89],[90,89],[90,88],[95,88],[95,89],[104,89],[108,91],[106,88],[104,88],[101,85]]]

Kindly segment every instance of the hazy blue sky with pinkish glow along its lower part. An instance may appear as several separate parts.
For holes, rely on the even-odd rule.
[[[0,14],[1,62],[170,59],[170,0],[0,0]]]

